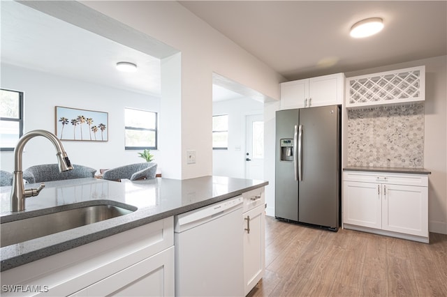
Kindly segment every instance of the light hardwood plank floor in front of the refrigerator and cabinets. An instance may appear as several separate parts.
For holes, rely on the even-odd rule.
[[[447,235],[430,244],[266,217],[265,275],[248,296],[447,296]]]

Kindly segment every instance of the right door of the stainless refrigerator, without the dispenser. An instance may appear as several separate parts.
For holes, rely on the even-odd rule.
[[[338,105],[300,109],[302,180],[298,183],[298,220],[338,228],[339,214]]]

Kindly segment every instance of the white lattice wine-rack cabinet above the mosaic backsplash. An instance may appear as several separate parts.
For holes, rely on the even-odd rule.
[[[425,66],[346,78],[346,107],[404,105],[425,100]]]

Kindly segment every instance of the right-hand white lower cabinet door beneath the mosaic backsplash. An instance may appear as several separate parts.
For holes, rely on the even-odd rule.
[[[388,184],[382,186],[382,229],[427,237],[427,187]]]

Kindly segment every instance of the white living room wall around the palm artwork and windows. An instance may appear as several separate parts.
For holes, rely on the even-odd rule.
[[[24,92],[24,132],[35,129],[55,132],[55,106],[108,112],[108,142],[62,142],[73,164],[96,170],[144,162],[137,151],[124,150],[124,107],[159,112],[160,100],[140,93],[1,64],[1,87]],[[157,156],[157,151],[152,154]],[[1,152],[1,169],[13,172],[14,153]],[[43,137],[25,146],[23,168],[57,163],[56,151]]]

